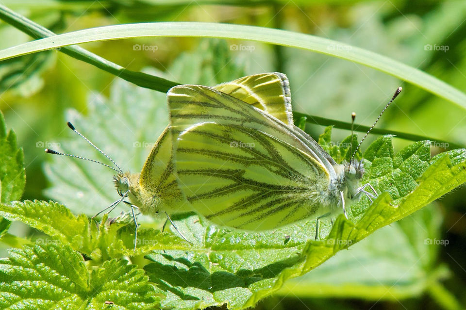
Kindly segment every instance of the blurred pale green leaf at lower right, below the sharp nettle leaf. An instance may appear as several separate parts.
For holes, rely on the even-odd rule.
[[[303,277],[285,282],[278,295],[369,300],[412,298],[448,276],[436,267],[442,213],[436,205],[381,228]],[[437,244],[429,244],[438,241]]]

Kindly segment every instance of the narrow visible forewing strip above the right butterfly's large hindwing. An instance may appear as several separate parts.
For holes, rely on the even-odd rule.
[[[213,88],[175,86],[167,93],[173,138],[198,123],[241,125],[264,131],[302,150],[322,164],[334,177],[334,161],[308,134]]]

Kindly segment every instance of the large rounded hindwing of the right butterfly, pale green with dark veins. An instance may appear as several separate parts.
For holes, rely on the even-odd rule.
[[[248,230],[321,215],[316,201],[329,182],[326,170],[306,153],[234,124],[201,123],[184,131],[176,168],[197,212],[216,224]]]

